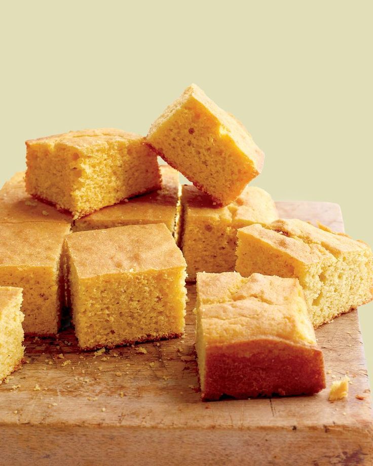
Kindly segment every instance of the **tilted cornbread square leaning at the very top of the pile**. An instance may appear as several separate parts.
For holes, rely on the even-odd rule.
[[[244,126],[195,84],[153,123],[147,141],[218,205],[234,201],[264,163]]]

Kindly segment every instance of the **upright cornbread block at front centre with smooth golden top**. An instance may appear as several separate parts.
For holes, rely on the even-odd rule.
[[[72,233],[65,257],[80,347],[183,333],[186,264],[164,223]]]

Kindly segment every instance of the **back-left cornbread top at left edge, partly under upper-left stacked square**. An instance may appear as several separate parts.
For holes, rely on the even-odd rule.
[[[55,222],[71,224],[72,216],[32,198],[27,192],[25,173],[16,173],[0,189],[0,222]]]

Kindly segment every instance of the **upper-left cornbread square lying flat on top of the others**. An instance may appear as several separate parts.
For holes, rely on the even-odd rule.
[[[157,157],[137,134],[70,131],[26,148],[27,192],[74,218],[160,187]]]

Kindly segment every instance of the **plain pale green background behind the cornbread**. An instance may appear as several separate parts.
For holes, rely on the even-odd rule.
[[[276,200],[338,202],[373,244],[372,2],[7,2],[0,182],[24,140],[71,129],[146,134],[192,82],[266,152]],[[373,305],[359,310],[373,374]]]

